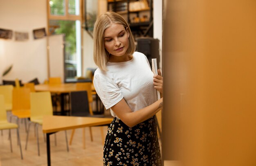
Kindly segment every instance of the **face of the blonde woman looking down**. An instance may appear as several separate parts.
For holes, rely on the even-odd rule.
[[[126,53],[129,46],[129,33],[121,24],[111,24],[104,31],[104,46],[106,50],[117,57]]]

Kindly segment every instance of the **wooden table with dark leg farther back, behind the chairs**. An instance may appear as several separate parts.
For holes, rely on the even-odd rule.
[[[40,91],[49,91],[51,93],[61,94],[61,115],[65,115],[64,111],[64,94],[79,91],[76,89],[76,83],[63,83],[58,85],[50,85],[50,84],[40,84],[35,85],[35,90]],[[95,88],[92,84],[92,92],[95,92]],[[97,104],[98,108],[98,104]]]

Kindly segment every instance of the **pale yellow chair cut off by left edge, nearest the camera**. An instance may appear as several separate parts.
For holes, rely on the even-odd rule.
[[[0,94],[0,130],[6,130],[6,129],[9,129],[9,140],[11,145],[11,152],[12,152],[11,129],[17,129],[17,140],[18,140],[18,145],[20,146],[20,156],[21,156],[21,159],[23,159],[18,125],[15,123],[9,123],[7,121],[6,111],[4,108],[4,96]]]

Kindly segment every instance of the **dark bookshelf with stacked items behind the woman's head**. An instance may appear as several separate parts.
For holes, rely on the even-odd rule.
[[[108,0],[108,11],[122,15],[136,37],[153,37],[153,0]]]

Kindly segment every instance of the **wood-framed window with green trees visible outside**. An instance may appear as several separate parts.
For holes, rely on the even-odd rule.
[[[48,0],[49,35],[65,34],[65,82],[81,76],[82,0]]]

